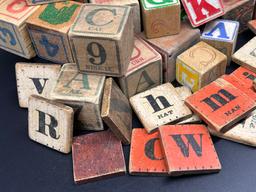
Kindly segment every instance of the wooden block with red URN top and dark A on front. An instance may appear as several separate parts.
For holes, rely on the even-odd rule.
[[[127,72],[118,78],[124,94],[133,95],[162,84],[162,57],[148,43],[135,37],[135,45]]]

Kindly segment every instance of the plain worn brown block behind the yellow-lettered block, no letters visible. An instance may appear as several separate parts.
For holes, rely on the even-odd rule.
[[[147,39],[141,34],[141,37],[162,55],[164,82],[172,82],[176,75],[177,56],[200,41],[200,30],[192,29],[190,24],[182,22],[177,35]]]

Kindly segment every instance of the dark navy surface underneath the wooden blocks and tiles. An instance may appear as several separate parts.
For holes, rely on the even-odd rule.
[[[245,32],[237,48],[254,35]],[[27,110],[18,106],[15,63],[23,58],[0,50],[0,191],[173,191],[253,192],[256,190],[256,151],[252,147],[213,138],[222,163],[218,174],[186,177],[122,176],[75,185],[72,156],[61,154],[28,138]],[[46,62],[35,58],[29,62]],[[232,64],[227,72],[237,66]],[[133,127],[141,127],[134,116]],[[128,169],[129,147],[124,147]]]

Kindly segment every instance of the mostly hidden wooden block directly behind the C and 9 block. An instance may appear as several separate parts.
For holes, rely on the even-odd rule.
[[[130,6],[132,8],[131,12],[133,17],[134,32],[135,33],[141,32],[139,0],[90,0],[90,2],[95,4]]]

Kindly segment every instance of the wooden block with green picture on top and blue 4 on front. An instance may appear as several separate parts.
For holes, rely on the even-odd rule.
[[[80,3],[66,1],[41,5],[27,20],[39,57],[56,63],[73,62],[68,31],[80,10]]]

